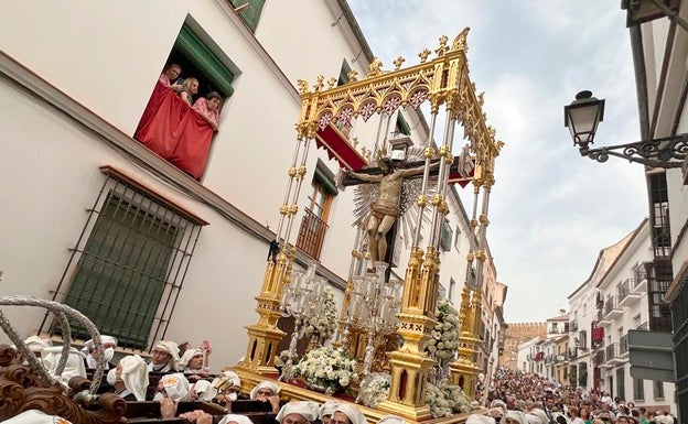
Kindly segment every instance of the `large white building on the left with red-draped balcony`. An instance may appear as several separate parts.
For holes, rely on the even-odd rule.
[[[154,0],[125,13],[109,2],[6,4],[1,295],[75,306],[119,338],[120,354],[146,356],[161,338],[208,339],[213,371],[235,365],[244,326],[258,318],[254,297],[298,168],[293,230],[278,241],[295,247],[298,268],[316,261],[343,297],[355,191],[336,187],[340,164],[315,145],[303,164],[290,162],[301,145],[297,80],[322,74],[345,84],[350,70],[366,75],[373,52],[344,0],[248,3]],[[197,78],[198,96],[222,95],[217,131],[160,86],[171,63]],[[380,119],[342,130],[361,157],[370,160]],[[387,123],[412,143],[429,139],[412,108]],[[465,284],[480,283],[466,260],[475,236],[458,189],[442,225],[439,282],[455,305]],[[401,230],[391,236],[391,275],[402,278],[408,240]],[[60,338],[37,308],[7,315],[20,334]],[[87,338],[83,329],[75,336]]]

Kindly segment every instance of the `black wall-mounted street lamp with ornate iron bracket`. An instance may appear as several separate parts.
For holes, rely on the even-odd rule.
[[[582,156],[606,162],[612,155],[653,167],[681,167],[688,153],[687,133],[590,149],[603,118],[604,99],[592,97],[590,91],[580,91],[576,100],[563,107],[563,124],[571,132],[573,145],[578,145]]]

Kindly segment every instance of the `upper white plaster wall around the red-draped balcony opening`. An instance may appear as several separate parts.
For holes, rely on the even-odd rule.
[[[246,43],[238,18],[214,1],[41,3],[4,6],[12,19],[0,25],[0,50],[129,135],[186,15],[197,21],[241,70],[223,108],[204,185],[258,222],[277,226],[300,101]]]

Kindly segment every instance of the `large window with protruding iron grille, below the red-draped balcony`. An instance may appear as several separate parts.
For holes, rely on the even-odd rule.
[[[143,349],[164,334],[205,222],[106,172],[54,300],[82,312],[120,347]],[[90,338],[71,326],[73,337]]]

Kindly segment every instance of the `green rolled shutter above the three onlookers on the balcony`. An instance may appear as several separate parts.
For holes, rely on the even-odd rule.
[[[201,39],[184,24],[174,46],[198,67],[225,97],[234,94],[234,74],[215,56]]]

